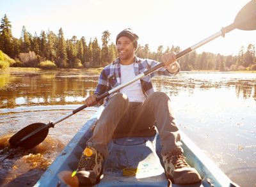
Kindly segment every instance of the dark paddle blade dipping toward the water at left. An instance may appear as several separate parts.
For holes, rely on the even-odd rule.
[[[35,133],[35,135],[31,135],[30,137],[25,138],[27,135],[33,133],[33,131],[36,131],[38,129],[41,130]],[[31,149],[43,142],[44,139],[47,137],[48,132],[49,128],[47,128],[46,124],[44,123],[29,124],[25,128],[22,128],[22,130],[15,133],[15,135],[10,138],[9,143],[11,147],[24,147],[26,149]],[[22,140],[23,138],[25,139]]]

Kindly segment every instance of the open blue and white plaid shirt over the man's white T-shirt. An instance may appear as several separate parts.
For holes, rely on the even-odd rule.
[[[141,59],[135,56],[134,57],[134,73],[137,76],[140,73],[143,73],[144,71],[148,70],[149,68],[156,66],[157,64],[159,64],[159,62],[153,61],[150,59]],[[180,71],[180,68],[179,68],[179,71]],[[140,79],[141,89],[146,97],[149,94],[154,92],[151,78],[155,76],[161,76],[161,75],[170,76],[173,74],[170,73],[165,68],[159,68],[153,73],[150,73],[149,75]],[[121,78],[120,58],[118,57],[117,59],[115,59],[115,61],[113,61],[113,63],[109,64],[101,71],[95,94],[97,94],[97,96],[100,96],[101,94],[106,93],[113,87],[120,85],[121,84],[120,78]]]

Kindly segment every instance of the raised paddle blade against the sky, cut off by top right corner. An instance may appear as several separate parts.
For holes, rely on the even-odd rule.
[[[244,31],[256,30],[256,0],[247,3],[236,15],[236,28]]]

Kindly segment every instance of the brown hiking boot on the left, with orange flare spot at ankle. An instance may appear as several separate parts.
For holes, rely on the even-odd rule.
[[[99,182],[104,156],[93,147],[86,147],[78,163],[76,176],[79,184],[93,185]]]

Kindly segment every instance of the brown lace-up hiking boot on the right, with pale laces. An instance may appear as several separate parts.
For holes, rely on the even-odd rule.
[[[181,151],[172,151],[163,155],[166,175],[174,184],[193,184],[202,179],[195,168],[191,168]]]

